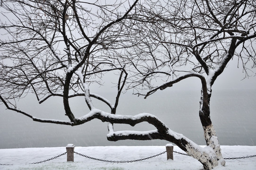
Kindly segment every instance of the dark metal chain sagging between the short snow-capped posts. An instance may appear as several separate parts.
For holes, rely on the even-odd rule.
[[[111,163],[129,163],[129,162],[136,162],[136,161],[144,161],[144,160],[147,160],[147,159],[151,159],[151,158],[154,158],[154,157],[157,157],[159,155],[162,155],[163,153],[166,153],[167,151],[164,151],[162,153],[158,153],[156,155],[153,155],[153,156],[149,156],[147,158],[143,158],[143,159],[138,159],[138,160],[132,160],[132,161],[110,161],[110,160],[102,160],[102,159],[98,159],[98,158],[93,158],[93,157],[90,157],[90,156],[86,156],[84,154],[81,154],[81,153],[77,153],[77,152],[74,152],[76,153],[77,155],[80,155],[80,156],[83,156],[85,158],[89,158],[89,159],[93,159],[93,160],[96,160],[96,161],[104,161],[104,162],[111,162]],[[173,151],[174,153],[178,153],[178,154],[182,154],[182,155],[185,155],[185,156],[189,156],[188,154],[186,153],[180,153],[180,152],[177,152],[177,151]],[[39,164],[39,163],[43,163],[43,162],[46,162],[46,161],[51,161],[53,159],[56,159],[56,158],[59,158],[60,156],[63,156],[65,155],[67,152],[65,153],[62,153],[58,156],[55,156],[55,157],[52,157],[50,159],[47,159],[47,160],[44,160],[44,161],[38,161],[38,162],[34,162],[34,163],[27,163],[27,164]],[[251,155],[251,156],[244,156],[244,157],[235,157],[235,158],[224,158],[225,160],[235,160],[235,159],[245,159],[245,158],[252,158],[252,157],[256,157],[256,155]],[[27,165],[26,164],[26,165]],[[14,165],[14,164],[1,164],[0,165]]]

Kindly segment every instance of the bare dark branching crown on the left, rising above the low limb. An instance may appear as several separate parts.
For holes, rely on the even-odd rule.
[[[78,125],[68,98],[85,95],[106,102],[115,112],[123,88],[122,67],[114,65],[100,51],[113,48],[121,28],[112,26],[127,18],[138,0],[102,4],[98,0],[6,0],[1,4],[1,101],[35,121]],[[128,8],[126,8],[128,7]],[[106,34],[108,33],[108,34]],[[118,71],[119,70],[119,71]],[[91,83],[101,84],[104,72],[117,71],[120,81],[117,100],[112,106],[96,94],[89,94]],[[70,94],[72,92],[72,94]],[[52,96],[63,97],[70,122],[43,120],[17,110],[14,99],[34,93],[42,103]],[[9,106],[13,106],[10,108]]]

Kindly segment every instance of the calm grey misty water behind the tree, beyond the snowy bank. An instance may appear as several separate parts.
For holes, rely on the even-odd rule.
[[[165,94],[162,96],[162,94]],[[104,97],[110,93],[103,93]],[[156,93],[148,99],[125,94],[119,103],[118,114],[135,115],[148,112],[156,115],[172,130],[182,133],[197,144],[205,144],[200,124],[200,91],[167,91]],[[57,101],[57,102],[56,102]],[[72,109],[77,116],[86,112],[84,99],[73,100]],[[21,109],[25,109],[40,118],[63,119],[60,101],[54,100],[39,106],[33,99],[21,100]],[[106,111],[104,105],[96,104]],[[256,90],[213,91],[211,99],[211,118],[222,145],[256,145]],[[115,125],[115,130],[153,130],[154,127],[143,123],[135,127]],[[34,122],[18,113],[5,110],[0,105],[0,148],[53,147],[105,145],[165,145],[167,141],[118,141],[106,139],[107,123],[93,120],[84,125],[69,127]]]

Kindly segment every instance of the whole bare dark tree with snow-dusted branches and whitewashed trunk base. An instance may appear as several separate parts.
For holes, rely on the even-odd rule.
[[[108,140],[163,139],[177,144],[205,169],[225,165],[210,119],[212,85],[234,57],[242,61],[246,76],[255,68],[254,1],[6,0],[1,13],[6,19],[0,26],[0,99],[9,110],[34,121],[71,126],[101,119],[109,122]],[[105,72],[119,77],[114,104],[89,91],[90,85],[102,84]],[[188,77],[197,77],[202,84],[199,117],[207,147],[172,131],[154,115],[116,114],[125,85],[146,98]],[[70,121],[35,118],[18,110],[15,99],[26,93],[34,93],[39,103],[62,97]],[[82,117],[70,109],[69,99],[76,96],[84,96],[90,109]],[[91,97],[106,103],[111,112],[96,108]],[[113,128],[114,123],[141,122],[156,129]]]

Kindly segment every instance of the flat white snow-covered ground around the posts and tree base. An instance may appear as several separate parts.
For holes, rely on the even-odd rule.
[[[75,147],[75,152],[90,157],[111,160],[131,161],[162,153],[165,146],[94,146]],[[174,151],[182,152],[177,146]],[[96,161],[74,154],[74,162],[67,162],[67,154],[54,160],[43,161],[65,153],[65,147],[0,149],[0,170],[201,170],[203,166],[195,159],[174,153],[174,160],[166,160],[166,153],[144,161],[131,163],[110,163]],[[256,154],[256,146],[222,146],[224,158],[244,157]],[[226,160],[226,167],[214,170],[256,170],[256,157]]]

